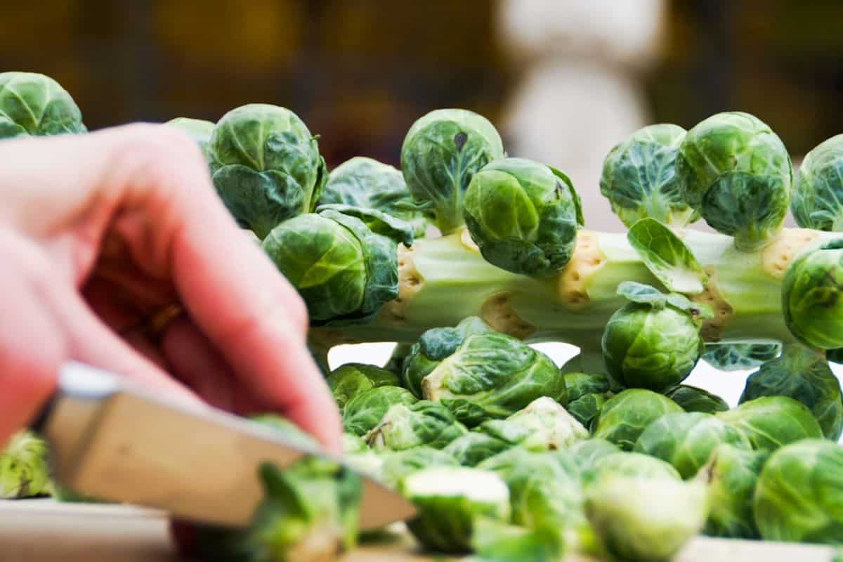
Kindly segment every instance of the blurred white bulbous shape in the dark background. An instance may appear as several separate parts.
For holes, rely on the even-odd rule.
[[[657,60],[663,0],[502,0],[498,30],[524,69],[507,104],[507,151],[556,166],[589,228],[623,225],[600,195],[611,147],[651,122],[640,76]]]

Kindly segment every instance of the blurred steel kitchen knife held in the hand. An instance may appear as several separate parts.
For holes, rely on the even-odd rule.
[[[258,468],[304,455],[343,463],[316,446],[204,404],[155,396],[110,372],[70,361],[33,426],[51,447],[56,481],[83,495],[245,527],[263,499]],[[361,474],[363,530],[415,513],[411,503]]]

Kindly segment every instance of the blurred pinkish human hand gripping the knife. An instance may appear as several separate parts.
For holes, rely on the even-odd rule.
[[[0,142],[0,442],[75,359],[180,399],[278,411],[340,450],[303,302],[167,126]],[[178,303],[158,335],[143,328]]]

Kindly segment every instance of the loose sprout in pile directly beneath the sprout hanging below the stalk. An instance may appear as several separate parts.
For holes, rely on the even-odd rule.
[[[638,437],[653,421],[665,414],[681,411],[679,404],[662,394],[630,388],[606,401],[594,427],[594,436],[631,451]]]

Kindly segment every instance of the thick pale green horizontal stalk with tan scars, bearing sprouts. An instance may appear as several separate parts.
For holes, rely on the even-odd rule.
[[[711,276],[706,302],[715,318],[703,327],[708,341],[792,341],[781,314],[781,281],[805,244],[832,233],[786,229],[754,252],[735,248],[733,238],[686,230],[685,244]],[[560,341],[599,350],[609,316],[626,302],[616,294],[621,281],[658,286],[621,233],[581,231],[565,270],[534,279],[484,260],[464,233],[416,241],[400,250],[400,297],[364,326],[313,330],[326,343],[411,342],[430,328],[453,326],[480,316],[501,331],[529,341]]]

